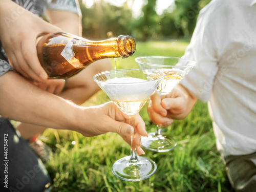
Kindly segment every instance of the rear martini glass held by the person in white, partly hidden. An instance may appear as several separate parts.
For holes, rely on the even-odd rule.
[[[182,78],[196,65],[193,60],[179,57],[144,56],[135,58],[141,69],[155,69],[165,73],[164,79],[156,89],[156,93],[167,95]],[[155,152],[168,152],[173,150],[177,142],[173,137],[162,133],[162,125],[157,125],[155,133],[149,133],[148,137],[141,138],[142,146]]]

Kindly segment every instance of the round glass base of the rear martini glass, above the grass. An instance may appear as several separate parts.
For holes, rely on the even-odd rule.
[[[141,143],[147,150],[155,152],[168,152],[177,145],[174,138],[166,135],[156,135],[155,133],[149,133],[148,137],[141,137]]]

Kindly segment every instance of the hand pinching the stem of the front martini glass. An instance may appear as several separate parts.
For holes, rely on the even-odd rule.
[[[85,108],[86,115],[81,114],[78,122],[82,129],[76,130],[82,135],[90,137],[107,132],[118,133],[128,144],[131,145],[131,136],[134,134],[133,144],[136,145],[138,155],[144,154],[141,148],[141,136],[147,136],[145,123],[139,114],[134,117],[134,127],[129,123],[129,116],[123,114],[113,102],[107,102],[98,106]],[[86,123],[86,124],[84,124]],[[80,124],[80,123],[79,123]],[[133,147],[132,147],[133,148]]]

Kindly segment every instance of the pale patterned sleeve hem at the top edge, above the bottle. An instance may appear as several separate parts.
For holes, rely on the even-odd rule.
[[[76,0],[46,0],[46,8],[70,11],[81,15],[81,11]]]

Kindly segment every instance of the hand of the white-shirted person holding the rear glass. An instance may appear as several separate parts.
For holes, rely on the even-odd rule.
[[[186,111],[187,96],[181,89],[175,88],[168,95],[161,97],[154,93],[147,105],[150,119],[155,124],[168,126],[173,123],[173,119],[179,119]]]

